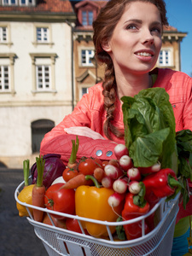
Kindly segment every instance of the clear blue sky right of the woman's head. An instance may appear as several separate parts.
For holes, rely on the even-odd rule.
[[[192,0],[165,0],[169,24],[188,32],[181,42],[181,70],[192,75]]]

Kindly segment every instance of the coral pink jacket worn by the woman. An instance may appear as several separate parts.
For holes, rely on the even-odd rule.
[[[176,131],[192,130],[192,79],[181,72],[171,69],[155,68],[152,73],[158,73],[154,87],[162,87],[170,96],[170,102],[176,119]],[[105,137],[103,124],[106,112],[103,108],[102,83],[92,86],[88,94],[74,108],[73,113],[67,115],[59,125],[47,133],[41,143],[40,154],[61,154],[61,160],[67,164],[72,150],[73,135],[67,135],[66,127],[87,126]],[[117,100],[113,124],[124,128],[121,102]],[[115,143],[113,143],[115,142]],[[99,156],[102,160],[115,158],[113,148],[116,143],[124,143],[124,139],[113,137],[113,142],[93,140],[89,137],[79,137],[79,159],[82,156]],[[192,206],[192,204],[191,204]],[[190,209],[192,212],[192,207]],[[183,217],[183,216],[182,216]]]

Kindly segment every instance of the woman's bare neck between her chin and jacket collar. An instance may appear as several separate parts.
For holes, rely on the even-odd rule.
[[[125,76],[116,77],[116,83],[119,99],[122,96],[135,96],[140,90],[148,89],[153,85],[152,78],[148,73],[126,78]]]

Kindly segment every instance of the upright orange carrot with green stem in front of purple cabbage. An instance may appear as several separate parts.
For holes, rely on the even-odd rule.
[[[38,178],[37,183],[32,189],[32,205],[35,207],[43,207],[44,208],[44,194],[45,187],[43,185],[43,176],[44,176],[44,163],[43,156],[36,158],[37,169],[38,169]],[[38,222],[42,222],[44,218],[44,212],[33,209],[33,218]]]

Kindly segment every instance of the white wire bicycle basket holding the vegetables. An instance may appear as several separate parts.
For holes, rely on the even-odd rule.
[[[121,222],[107,222],[99,221],[91,218],[81,218],[70,214],[56,212],[57,215],[66,218],[77,218],[79,221],[82,234],[66,229],[55,227],[50,213],[54,211],[46,208],[34,207],[24,202],[19,201],[18,195],[20,189],[23,188],[24,182],[15,189],[15,200],[21,205],[25,206],[29,216],[27,220],[34,227],[36,236],[43,242],[47,253],[50,256],[170,256],[172,252],[172,240],[174,234],[174,227],[178,212],[179,194],[171,201],[161,199],[154,208],[143,215],[142,217],[134,218]],[[39,223],[32,218],[29,208],[36,208],[38,210],[47,212],[50,221],[53,225]],[[156,225],[154,230],[145,234],[144,224],[145,219],[149,215],[154,214]],[[96,238],[84,233],[81,222],[86,221],[95,224],[102,224],[107,227],[108,239]],[[134,222],[142,222],[143,235],[130,241],[119,241],[113,238],[110,227],[132,224]]]

